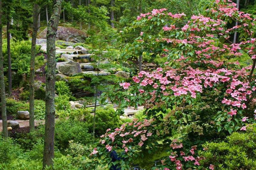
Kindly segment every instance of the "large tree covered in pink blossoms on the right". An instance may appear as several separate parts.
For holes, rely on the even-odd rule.
[[[238,25],[233,27],[235,22]],[[109,94],[120,106],[118,114],[128,105],[146,103],[148,118],[102,135],[90,156],[94,165],[111,165],[108,151],[115,150],[122,158],[115,164],[127,168],[140,151],[156,151],[157,139],[165,139],[170,156],[155,169],[196,168],[203,159],[196,156],[202,143],[243,132],[255,123],[254,23],[255,19],[238,11],[235,3],[216,0],[204,15],[187,19],[183,13],[154,9],[120,31],[122,40],[122,35],[141,29],[139,37],[123,48],[124,59],[146,52],[152,58],[165,53],[168,61],[151,73],[140,72],[133,82],[116,86],[127,94]],[[233,44],[230,40],[235,32],[239,40]],[[252,66],[241,68],[238,62],[230,62],[244,56],[252,59]],[[182,129],[186,133],[181,140],[170,140],[172,130]],[[214,169],[214,165],[207,168]]]

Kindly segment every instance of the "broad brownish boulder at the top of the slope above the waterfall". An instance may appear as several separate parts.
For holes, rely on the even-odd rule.
[[[46,39],[47,27],[44,28],[43,31],[40,32],[39,37]],[[82,40],[81,40],[82,38]],[[83,31],[80,31],[75,28],[68,28],[68,27],[58,27],[56,40],[63,40],[63,41],[71,41],[75,43],[84,43],[84,38],[86,38],[86,34]],[[82,41],[82,42],[81,42]]]

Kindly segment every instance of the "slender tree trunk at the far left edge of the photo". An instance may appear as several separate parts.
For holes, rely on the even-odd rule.
[[[7,117],[6,117],[6,102],[4,89],[4,61],[2,51],[2,0],[0,0],[0,90],[1,90],[1,111],[3,120],[3,135],[8,138]]]

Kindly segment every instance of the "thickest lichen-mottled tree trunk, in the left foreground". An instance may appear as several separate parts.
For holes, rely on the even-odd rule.
[[[45,90],[45,138],[44,138],[44,157],[43,169],[45,166],[52,165],[54,158],[54,90],[55,90],[55,70],[56,70],[56,50],[55,38],[60,20],[61,0],[56,0],[52,10],[52,16],[47,26],[47,72]]]

